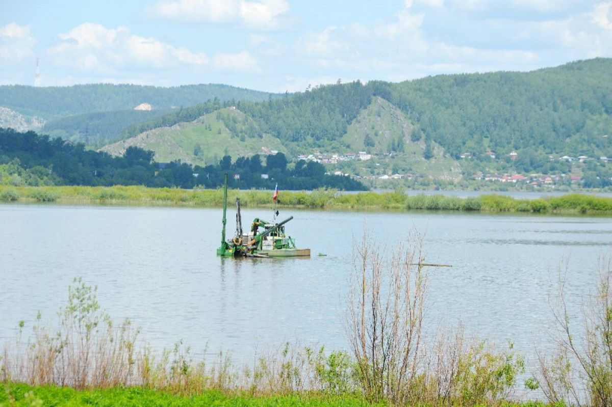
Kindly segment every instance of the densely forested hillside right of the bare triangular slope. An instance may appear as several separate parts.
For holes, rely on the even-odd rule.
[[[528,73],[444,75],[388,86],[389,101],[457,157],[462,152],[612,155],[612,59]]]

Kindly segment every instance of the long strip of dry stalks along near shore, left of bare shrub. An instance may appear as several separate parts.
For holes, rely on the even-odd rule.
[[[348,354],[328,353],[297,344],[264,352],[252,365],[234,364],[228,354],[195,359],[188,346],[156,354],[138,340],[129,320],[115,326],[97,301],[96,289],[76,279],[69,287],[66,307],[54,328],[39,314],[31,336],[19,325],[15,340],[0,356],[0,381],[32,385],[54,384],[76,389],[143,386],[176,394],[206,390],[280,395],[315,391],[343,394],[354,391]]]

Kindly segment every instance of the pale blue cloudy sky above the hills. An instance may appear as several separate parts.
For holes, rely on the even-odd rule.
[[[0,84],[341,81],[612,57],[612,1],[0,0]]]

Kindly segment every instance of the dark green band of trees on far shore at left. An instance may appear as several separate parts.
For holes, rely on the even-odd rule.
[[[152,187],[177,186],[193,188],[196,185],[218,188],[223,185],[223,174],[232,177],[235,188],[274,189],[275,183],[282,189],[315,189],[321,187],[364,190],[362,183],[337,175],[326,175],[321,164],[308,163],[287,169],[283,153],[268,155],[266,167],[261,166],[259,155],[238,158],[232,163],[229,155],[223,156],[217,165],[206,167],[173,161],[158,165],[154,153],[130,146],[121,157],[85,150],[83,144],[72,144],[61,139],[50,139],[29,131],[18,133],[0,128],[0,185],[146,185]],[[25,170],[24,167],[31,168]],[[253,172],[257,170],[257,172]],[[263,171],[268,179],[261,178]],[[197,177],[196,175],[197,174]],[[41,189],[41,191],[43,191]],[[47,201],[46,193],[36,193],[32,198]],[[99,196],[99,199],[124,199],[122,196]],[[54,199],[51,199],[54,200]]]

